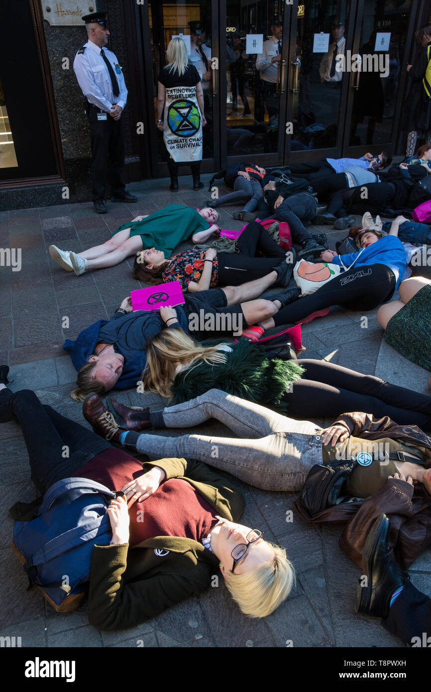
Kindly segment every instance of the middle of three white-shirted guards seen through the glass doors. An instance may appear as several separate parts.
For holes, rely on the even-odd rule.
[[[279,96],[275,91],[279,71],[279,62],[282,59],[282,34],[283,26],[279,19],[275,19],[271,24],[273,35],[264,42],[263,53],[259,53],[256,58],[256,69],[260,73],[261,98],[262,104],[266,106],[268,116],[278,115]],[[260,100],[260,99],[259,99]],[[261,113],[259,120],[263,120],[263,109],[258,108]]]

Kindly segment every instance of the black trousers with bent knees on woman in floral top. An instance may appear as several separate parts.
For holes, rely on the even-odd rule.
[[[219,285],[239,286],[266,276],[286,254],[257,221],[251,221],[237,240],[239,253],[218,253]],[[257,252],[264,257],[255,257]]]

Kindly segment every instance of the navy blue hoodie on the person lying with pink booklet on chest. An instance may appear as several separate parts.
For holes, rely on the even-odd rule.
[[[176,313],[178,316],[178,322],[180,323],[182,329],[188,334],[187,330],[187,316],[183,309],[183,306],[178,305],[176,307]],[[148,339],[152,338],[154,334],[163,329],[164,322],[158,313],[145,313],[148,318]],[[93,325],[86,327],[80,331],[77,338],[73,341],[71,339],[66,339],[63,344],[63,348],[71,356],[72,363],[76,370],[81,370],[83,365],[86,365],[88,358],[93,355],[94,349],[99,342],[99,332],[102,327],[109,325],[113,320],[122,320],[125,316],[122,313],[116,313],[111,320],[99,320],[94,322]],[[158,323],[155,323],[158,320]],[[178,325],[175,323],[175,326]],[[172,325],[174,327],[174,325]],[[156,329],[156,331],[154,331]],[[147,358],[145,357],[145,343],[143,343],[143,350],[136,352],[136,355],[131,358],[125,358],[125,363],[122,368],[122,373],[118,382],[113,389],[128,389],[129,387],[136,387],[136,383],[140,380],[140,376],[143,372],[145,365],[147,365]]]

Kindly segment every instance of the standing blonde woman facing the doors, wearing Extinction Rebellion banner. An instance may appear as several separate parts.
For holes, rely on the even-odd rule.
[[[202,160],[203,91],[196,67],[188,64],[187,46],[176,37],[167,46],[167,65],[158,75],[157,127],[163,131],[169,190],[178,190],[178,167],[190,163],[193,189],[200,190]],[[164,109],[164,112],[163,112]],[[162,116],[163,113],[163,116]]]

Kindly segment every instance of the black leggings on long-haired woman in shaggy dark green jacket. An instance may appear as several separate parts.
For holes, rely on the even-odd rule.
[[[431,428],[431,397],[391,385],[373,375],[363,375],[326,361],[292,361],[304,365],[304,375],[292,392],[284,394],[287,415],[296,419],[333,418],[341,413],[364,411],[389,416],[398,425]]]

